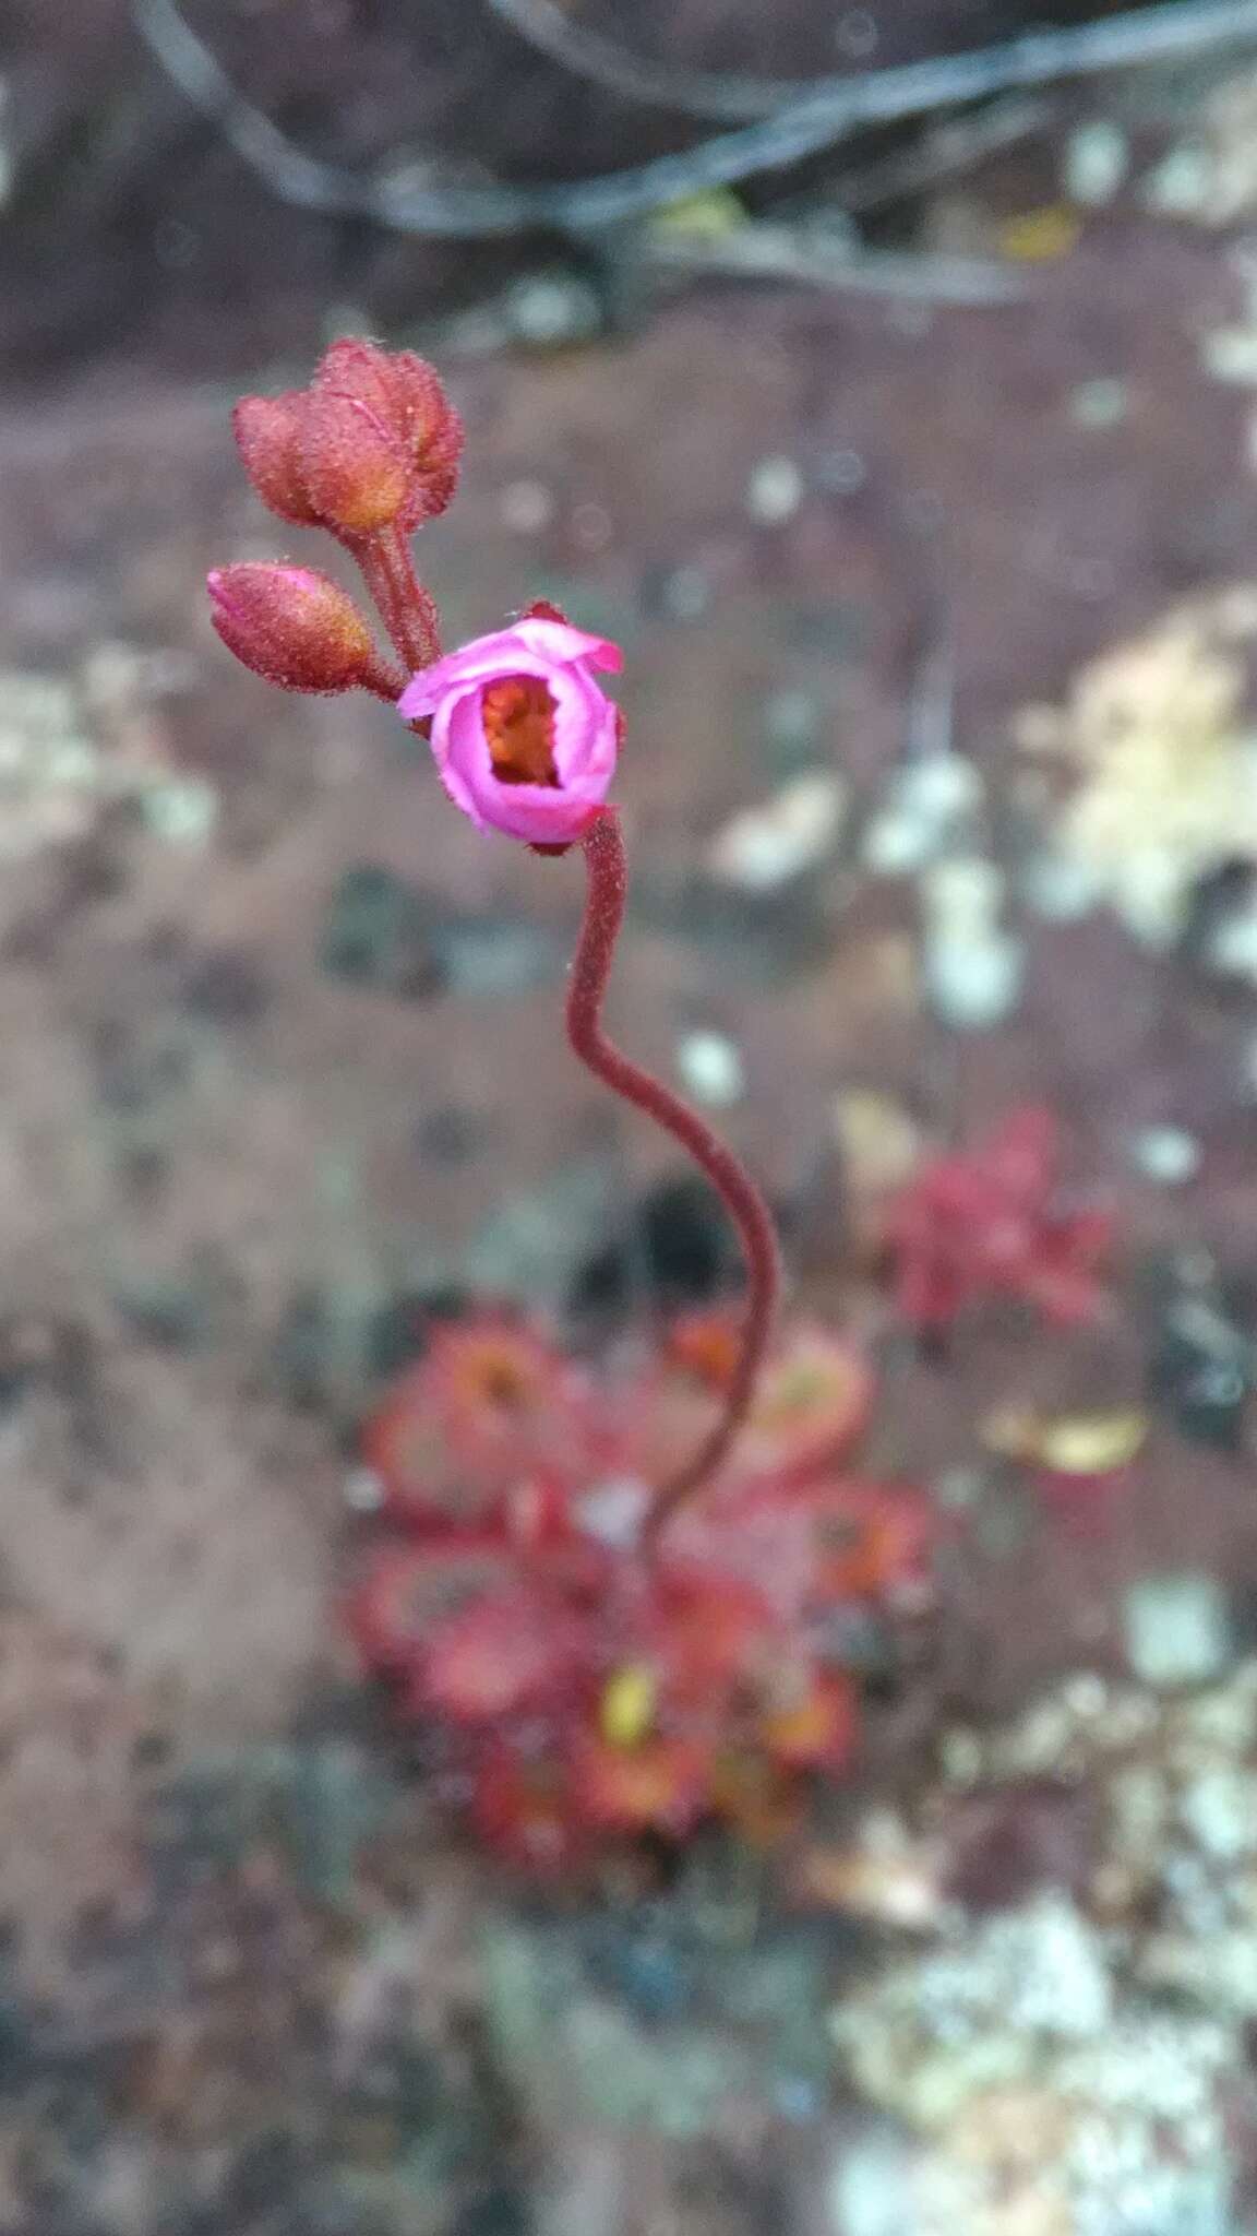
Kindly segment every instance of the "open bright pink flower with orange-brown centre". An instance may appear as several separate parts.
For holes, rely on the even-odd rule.
[[[441,783],[472,823],[570,845],[602,807],[620,747],[620,713],[593,669],[620,666],[606,637],[526,615],[420,669],[398,713],[432,720]]]

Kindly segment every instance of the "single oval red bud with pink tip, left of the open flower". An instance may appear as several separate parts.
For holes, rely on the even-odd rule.
[[[224,566],[208,577],[226,648],[284,691],[376,689],[382,671],[347,593],[306,566]]]

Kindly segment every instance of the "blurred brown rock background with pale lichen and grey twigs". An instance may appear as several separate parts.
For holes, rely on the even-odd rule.
[[[0,311],[0,2227],[1250,2232],[1257,7],[7,0]],[[579,865],[208,628],[342,333],[465,414],[450,639],[624,644],[617,1031],[948,1523],[787,1865],[537,1903],[340,1637],[434,1315],[736,1272]],[[1024,1105],[1114,1308],[915,1344],[886,1205]]]

